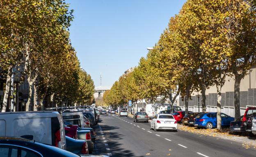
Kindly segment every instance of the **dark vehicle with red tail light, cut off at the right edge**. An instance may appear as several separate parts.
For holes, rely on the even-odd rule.
[[[254,119],[254,114],[256,113],[256,107],[248,107],[245,110],[245,114],[242,119],[242,131],[251,132],[252,121]]]

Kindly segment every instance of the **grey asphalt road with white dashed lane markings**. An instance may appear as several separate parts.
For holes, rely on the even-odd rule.
[[[256,149],[239,142],[178,132],[149,129],[130,117],[101,115],[94,154],[112,157],[255,157]]]

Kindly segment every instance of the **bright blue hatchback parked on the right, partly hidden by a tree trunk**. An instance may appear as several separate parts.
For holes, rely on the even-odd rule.
[[[234,117],[230,117],[224,113],[221,113],[222,127],[228,127],[231,121],[234,121]],[[217,126],[217,113],[201,113],[197,115],[194,126],[205,127],[208,129],[215,128]]]

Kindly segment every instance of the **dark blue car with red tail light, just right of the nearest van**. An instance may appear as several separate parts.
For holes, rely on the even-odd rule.
[[[84,139],[73,139],[66,136],[66,150],[71,153],[81,155],[89,154],[87,142]]]

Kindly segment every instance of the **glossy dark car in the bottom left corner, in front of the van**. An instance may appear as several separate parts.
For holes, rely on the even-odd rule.
[[[0,137],[0,156],[12,157],[80,157],[69,151],[17,137]]]

